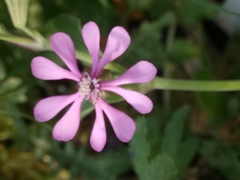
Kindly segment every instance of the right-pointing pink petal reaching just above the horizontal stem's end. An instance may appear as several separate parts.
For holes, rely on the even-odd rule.
[[[151,81],[157,74],[156,67],[147,61],[140,61],[118,78],[102,82],[101,86],[119,86],[123,84],[145,83]]]

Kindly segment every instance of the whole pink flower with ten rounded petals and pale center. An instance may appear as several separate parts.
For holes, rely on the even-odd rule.
[[[39,122],[48,121],[72,103],[66,114],[53,128],[53,137],[56,140],[69,141],[75,136],[80,125],[80,109],[83,100],[91,101],[95,106],[96,119],[90,143],[92,148],[99,152],[106,144],[103,112],[107,115],[116,136],[122,142],[130,141],[136,129],[134,121],[125,113],[107,104],[100,92],[104,90],[119,94],[141,114],[149,113],[153,104],[147,96],[120,86],[149,82],[155,77],[157,70],[151,63],[140,61],[118,78],[103,82],[99,77],[101,70],[128,48],[130,37],[124,28],[114,27],[108,36],[105,51],[102,57],[99,57],[98,26],[94,22],[88,22],[82,28],[82,36],[92,57],[90,74],[79,71],[74,44],[70,37],[62,32],[54,34],[50,43],[53,51],[64,61],[69,70],[41,56],[32,60],[32,73],[36,78],[42,80],[70,79],[76,81],[78,87],[78,91],[74,94],[52,96],[40,100],[34,108],[34,116]]]

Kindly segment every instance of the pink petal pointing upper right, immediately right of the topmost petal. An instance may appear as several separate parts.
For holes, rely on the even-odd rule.
[[[105,51],[99,62],[96,76],[107,63],[121,56],[126,51],[130,41],[130,36],[123,27],[116,26],[111,30],[108,36]]]

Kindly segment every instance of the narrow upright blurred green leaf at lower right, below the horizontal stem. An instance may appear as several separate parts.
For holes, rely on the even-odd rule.
[[[162,142],[162,153],[175,158],[184,133],[184,125],[189,113],[189,106],[177,110],[167,123]]]

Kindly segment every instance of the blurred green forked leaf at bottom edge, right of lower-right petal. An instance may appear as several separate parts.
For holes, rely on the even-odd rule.
[[[149,160],[151,145],[147,140],[147,125],[144,117],[138,118],[137,130],[130,146],[133,151],[133,165],[141,180],[171,180],[175,177],[177,168],[174,160],[168,154],[158,154]]]

